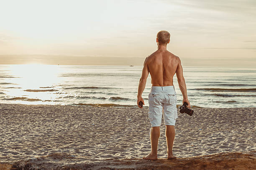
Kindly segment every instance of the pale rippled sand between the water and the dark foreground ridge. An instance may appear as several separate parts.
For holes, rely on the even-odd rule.
[[[179,113],[175,125],[173,153],[179,159],[256,150],[256,107],[193,109],[191,117]],[[163,159],[164,122],[160,129]],[[88,161],[140,159],[151,150],[149,130],[148,107],[0,104],[0,163],[52,154]]]

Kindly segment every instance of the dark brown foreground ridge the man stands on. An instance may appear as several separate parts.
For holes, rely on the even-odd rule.
[[[61,163],[63,158],[69,163]],[[85,157],[60,155],[58,153],[20,160],[15,163],[0,163],[1,170],[253,170],[255,169],[256,151],[248,153],[218,153],[213,155],[178,158],[177,160],[143,159],[89,160]]]

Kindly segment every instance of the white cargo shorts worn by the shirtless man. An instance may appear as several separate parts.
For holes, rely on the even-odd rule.
[[[162,114],[165,125],[175,125],[178,111],[174,86],[152,86],[148,95],[148,103],[148,118],[151,127],[161,125]]]

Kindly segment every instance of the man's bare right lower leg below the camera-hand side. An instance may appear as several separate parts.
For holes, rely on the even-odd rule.
[[[173,142],[175,137],[174,126],[166,125],[165,136],[166,136],[166,143],[167,143],[167,159],[175,159],[176,157],[172,155],[172,147],[173,147]]]

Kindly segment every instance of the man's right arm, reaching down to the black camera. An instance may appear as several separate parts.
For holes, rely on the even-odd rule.
[[[189,100],[187,98],[186,82],[185,82],[185,79],[183,77],[183,69],[182,69],[182,65],[181,65],[181,61],[180,61],[179,57],[178,57],[178,66],[177,66],[177,70],[176,70],[176,75],[177,75],[177,79],[178,79],[178,83],[179,83],[179,89],[182,92],[182,96],[183,96],[182,103],[187,102],[188,107],[190,109],[190,103],[189,103]]]

